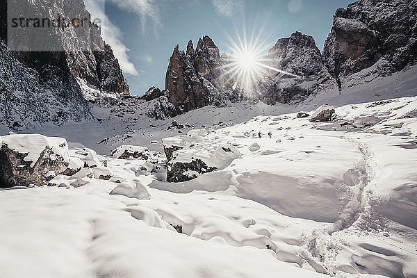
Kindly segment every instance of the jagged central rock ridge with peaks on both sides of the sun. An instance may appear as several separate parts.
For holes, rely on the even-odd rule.
[[[233,54],[220,56],[218,47],[208,36],[199,39],[195,50],[191,41],[186,52],[180,51],[177,45],[165,77],[169,100],[178,113],[184,113],[243,99],[259,99],[265,104],[290,103],[313,92],[336,87],[316,42],[309,35],[296,32],[290,38],[278,40],[266,58],[269,66],[299,77],[271,71],[251,88],[243,88],[236,75],[229,71]]]

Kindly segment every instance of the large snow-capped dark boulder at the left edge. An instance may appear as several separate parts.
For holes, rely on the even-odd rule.
[[[0,187],[41,186],[70,165],[64,138],[39,134],[1,137]]]

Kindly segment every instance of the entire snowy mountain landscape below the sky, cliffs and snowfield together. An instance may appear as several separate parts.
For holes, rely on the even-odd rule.
[[[0,276],[417,277],[415,6],[338,10],[323,54],[278,40],[304,78],[250,96],[208,37],[142,97],[109,47],[0,42]]]

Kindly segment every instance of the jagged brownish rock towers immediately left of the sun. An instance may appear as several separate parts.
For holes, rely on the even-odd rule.
[[[199,39],[194,49],[190,40],[187,51],[174,48],[165,77],[165,89],[169,100],[184,113],[206,105],[222,106],[227,100],[237,99],[238,90],[232,89],[233,82],[227,83],[223,66],[226,58],[208,36]]]

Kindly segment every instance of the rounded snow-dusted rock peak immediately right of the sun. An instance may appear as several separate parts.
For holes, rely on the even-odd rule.
[[[261,81],[266,87],[260,94],[260,99],[267,104],[300,101],[312,93],[336,86],[316,42],[309,35],[295,32],[290,38],[279,39],[268,51],[266,60],[271,67],[297,76],[268,72],[268,78]]]

